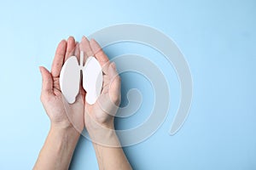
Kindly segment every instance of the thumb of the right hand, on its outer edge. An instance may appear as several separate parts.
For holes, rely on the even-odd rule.
[[[118,104],[120,99],[121,80],[119,77],[119,73],[116,71],[116,67],[114,63],[111,63],[109,65],[108,75],[110,79],[110,83],[109,83],[110,98],[115,104]]]

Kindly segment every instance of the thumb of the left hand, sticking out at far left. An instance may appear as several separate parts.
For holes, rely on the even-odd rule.
[[[42,93],[53,93],[53,79],[49,71],[44,68],[44,66],[40,66],[39,70],[41,72],[43,83],[42,83]]]

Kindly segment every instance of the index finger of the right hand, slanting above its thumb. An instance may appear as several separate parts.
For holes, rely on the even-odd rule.
[[[109,65],[108,56],[103,52],[101,46],[98,44],[98,42],[96,42],[95,39],[90,40],[90,48],[92,49],[93,54],[102,66],[102,71],[107,74]]]

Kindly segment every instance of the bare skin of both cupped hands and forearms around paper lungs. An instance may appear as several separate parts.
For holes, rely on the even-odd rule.
[[[61,67],[70,56],[75,55],[79,60],[80,51],[84,51],[84,61],[95,56],[102,66],[102,93],[94,105],[85,101],[82,84],[75,103],[63,102],[59,82]],[[115,105],[120,102],[120,78],[99,44],[86,37],[79,43],[69,37],[56,48],[51,71],[39,69],[43,78],[41,101],[49,116],[50,130],[33,169],[68,169],[84,127],[90,134],[100,169],[131,169],[113,125]]]

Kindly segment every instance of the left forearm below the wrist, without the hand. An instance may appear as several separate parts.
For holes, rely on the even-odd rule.
[[[33,169],[68,169],[78,140],[74,127],[51,126]]]

